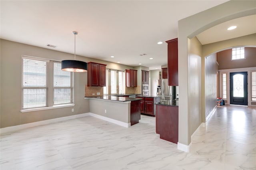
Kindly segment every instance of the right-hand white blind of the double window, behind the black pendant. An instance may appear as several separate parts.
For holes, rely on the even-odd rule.
[[[73,102],[73,73],[61,70],[61,63],[54,61],[54,105]]]

